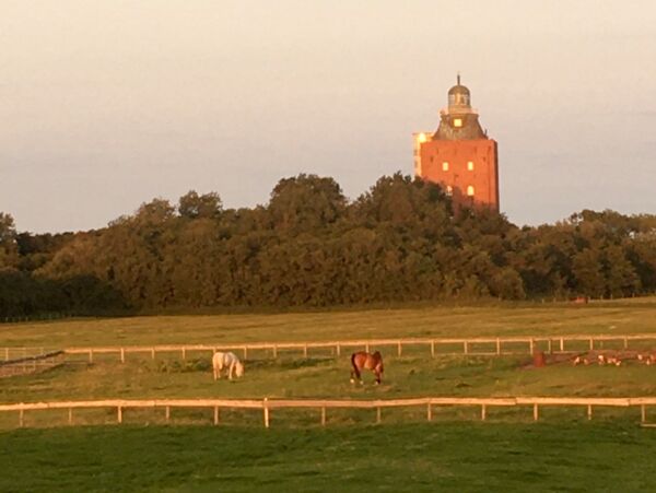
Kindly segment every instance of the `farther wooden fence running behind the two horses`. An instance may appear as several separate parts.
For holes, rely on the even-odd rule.
[[[442,355],[506,355],[506,354],[532,354],[536,349],[549,353],[581,352],[573,350],[572,344],[585,343],[586,350],[601,349],[605,343],[616,342],[621,349],[628,350],[631,342],[652,341],[656,343],[656,332],[637,334],[570,334],[570,336],[524,336],[524,337],[497,337],[497,338],[401,338],[401,339],[373,339],[373,340],[343,340],[343,341],[305,341],[305,342],[254,342],[254,343],[216,343],[216,344],[166,344],[166,345],[131,345],[131,347],[95,347],[95,348],[68,348],[67,354],[85,354],[90,362],[94,355],[113,353],[120,357],[121,363],[126,361],[128,353],[150,354],[154,360],[156,353],[180,353],[183,360],[191,351],[237,351],[248,359],[249,351],[266,351],[271,357],[278,357],[280,351],[301,351],[304,357],[308,357],[311,350],[328,349],[332,355],[340,356],[344,349],[380,349],[391,347],[398,356],[408,347],[425,347],[432,356]],[[511,348],[511,344],[515,347]],[[520,348],[517,349],[516,345]],[[446,351],[445,351],[446,349]]]

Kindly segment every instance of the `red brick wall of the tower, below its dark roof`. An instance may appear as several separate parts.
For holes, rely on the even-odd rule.
[[[453,187],[456,208],[489,207],[499,211],[496,142],[491,139],[433,140],[421,144],[421,173],[424,179]],[[443,169],[443,163],[448,169]],[[468,163],[473,169],[468,169]],[[473,197],[467,195],[473,187]]]

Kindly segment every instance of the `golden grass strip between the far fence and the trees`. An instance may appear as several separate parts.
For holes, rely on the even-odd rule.
[[[0,347],[66,348],[400,337],[656,332],[656,297],[572,303],[179,315],[0,324]]]

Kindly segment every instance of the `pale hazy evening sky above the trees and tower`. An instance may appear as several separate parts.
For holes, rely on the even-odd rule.
[[[511,221],[656,213],[653,0],[0,0],[0,211],[87,230],[298,173],[355,198],[412,173],[457,71]]]

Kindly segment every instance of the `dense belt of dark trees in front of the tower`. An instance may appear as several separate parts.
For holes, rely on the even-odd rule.
[[[19,234],[0,213],[0,316],[654,291],[656,215],[519,228],[454,214],[438,186],[400,174],[352,202],[314,175],[282,179],[254,209],[190,191],[74,234]]]

